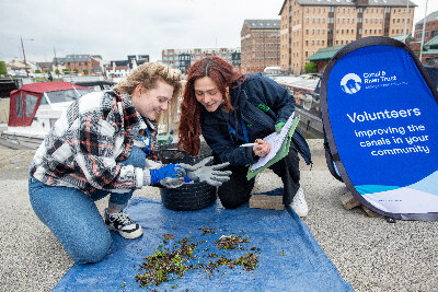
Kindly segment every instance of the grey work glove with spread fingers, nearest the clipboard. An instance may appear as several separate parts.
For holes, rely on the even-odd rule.
[[[230,163],[226,162],[222,164],[207,166],[207,164],[210,163],[214,157],[209,156],[195,165],[181,163],[180,166],[185,168],[186,176],[189,179],[194,182],[207,183],[210,186],[219,187],[222,185],[223,182],[230,180],[230,171],[219,171],[230,165]]]

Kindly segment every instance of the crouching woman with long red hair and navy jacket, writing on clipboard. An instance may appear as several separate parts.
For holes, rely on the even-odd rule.
[[[234,209],[251,197],[254,178],[246,179],[249,165],[269,153],[263,137],[280,131],[293,114],[295,98],[275,81],[256,74],[241,74],[219,57],[196,61],[189,69],[181,105],[178,145],[195,155],[203,135],[218,162],[228,162],[229,182],[218,189],[224,208]],[[255,142],[252,148],[240,147]],[[300,187],[298,152],[308,164],[311,155],[303,136],[296,130],[286,157],[269,168],[284,183],[283,202],[301,217],[309,208]]]

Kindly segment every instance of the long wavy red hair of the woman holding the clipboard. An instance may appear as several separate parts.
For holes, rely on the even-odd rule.
[[[178,147],[191,155],[197,155],[200,149],[200,112],[203,105],[195,97],[195,81],[203,77],[209,77],[215,81],[218,90],[222,93],[224,104],[231,109],[233,109],[233,106],[226,97],[229,94],[227,89],[237,86],[244,80],[242,73],[219,57],[207,57],[192,65],[183,92],[178,128]]]

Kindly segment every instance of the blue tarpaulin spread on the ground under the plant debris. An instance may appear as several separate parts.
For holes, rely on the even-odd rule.
[[[128,241],[113,233],[113,250],[103,261],[74,265],[54,291],[353,291],[290,208],[276,211],[246,205],[226,210],[218,202],[203,210],[178,212],[165,209],[158,200],[136,197],[126,211],[141,224],[143,236]],[[204,234],[200,229],[206,226],[215,232]],[[163,234],[172,234],[174,240],[163,244]],[[255,270],[220,267],[211,277],[204,270],[188,270],[181,279],[148,288],[135,280],[142,272],[138,268],[145,257],[162,244],[171,247],[192,236],[193,242],[206,242],[195,250],[206,255],[215,250],[215,241],[221,235],[232,234],[246,236],[247,250],[260,248]],[[247,252],[227,253],[237,256]]]

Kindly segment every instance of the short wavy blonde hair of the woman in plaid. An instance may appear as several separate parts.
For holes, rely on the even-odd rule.
[[[157,117],[157,121],[173,122],[177,115],[178,97],[182,92],[181,71],[172,69],[159,62],[142,63],[135,69],[129,75],[124,78],[117,83],[115,90],[120,93],[127,93],[129,96],[134,93],[135,89],[141,84],[145,90],[155,89],[158,81],[164,81],[173,86],[172,100],[169,104],[168,114],[164,117]]]

